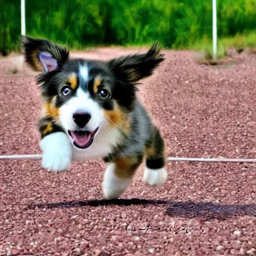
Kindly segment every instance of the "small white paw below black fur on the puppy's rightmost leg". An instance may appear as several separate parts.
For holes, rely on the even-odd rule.
[[[148,183],[151,186],[160,186],[167,179],[167,170],[165,167],[159,169],[149,169],[145,167],[143,182]]]

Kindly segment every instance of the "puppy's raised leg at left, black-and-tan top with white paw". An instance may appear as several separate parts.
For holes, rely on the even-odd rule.
[[[42,167],[51,171],[67,170],[72,161],[72,145],[67,135],[51,116],[39,120]]]

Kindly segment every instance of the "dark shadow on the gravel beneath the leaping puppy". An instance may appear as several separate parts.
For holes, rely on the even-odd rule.
[[[86,206],[130,206],[130,205],[166,205],[166,214],[172,217],[226,219],[232,216],[249,215],[256,216],[256,204],[217,204],[212,202],[192,202],[180,201],[173,202],[169,200],[147,200],[147,199],[115,199],[115,200],[86,200],[86,201],[67,201],[33,204],[30,208],[69,208]]]

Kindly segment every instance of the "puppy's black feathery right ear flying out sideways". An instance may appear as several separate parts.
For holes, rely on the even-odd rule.
[[[126,82],[138,80],[152,74],[158,64],[164,60],[163,54],[159,54],[160,46],[155,42],[144,54],[133,54],[108,61],[108,67],[115,76]]]

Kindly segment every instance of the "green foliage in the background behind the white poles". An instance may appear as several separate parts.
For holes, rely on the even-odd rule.
[[[211,41],[211,4],[211,0],[26,0],[26,33],[75,49],[155,40],[167,48],[191,48]],[[0,50],[8,52],[18,49],[20,0],[0,0],[0,6]],[[218,38],[244,41],[239,38],[256,28],[255,16],[255,0],[217,0]],[[250,36],[249,44],[255,39]]]

